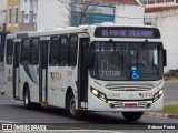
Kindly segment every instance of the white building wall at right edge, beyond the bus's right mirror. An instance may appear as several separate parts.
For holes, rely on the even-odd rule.
[[[157,13],[157,24],[160,28],[162,41],[167,49],[167,66],[165,71],[178,69],[178,16],[172,16],[177,14],[176,12],[178,12],[178,9]]]

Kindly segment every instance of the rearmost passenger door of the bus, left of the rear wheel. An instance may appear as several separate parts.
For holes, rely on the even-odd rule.
[[[13,52],[13,81],[12,81],[12,88],[13,88],[13,98],[19,99],[20,91],[19,91],[19,82],[20,82],[20,71],[19,71],[19,54],[20,54],[20,43],[21,40],[14,40],[14,52]]]

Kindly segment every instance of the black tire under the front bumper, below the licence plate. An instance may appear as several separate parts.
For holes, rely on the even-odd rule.
[[[137,121],[142,116],[144,112],[122,112],[127,121]]]

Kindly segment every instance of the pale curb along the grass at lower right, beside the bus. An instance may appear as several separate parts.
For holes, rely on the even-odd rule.
[[[155,117],[165,117],[165,119],[178,119],[176,114],[166,114],[166,113],[155,113],[155,112],[145,112],[144,115],[155,116]]]

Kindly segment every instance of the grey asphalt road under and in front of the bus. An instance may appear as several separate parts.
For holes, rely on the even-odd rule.
[[[142,116],[139,121],[130,123],[127,122],[120,113],[106,112],[91,112],[85,114],[82,120],[72,120],[63,109],[43,108],[41,110],[26,110],[21,101],[11,100],[6,95],[0,96],[0,123],[21,123],[22,125],[24,123],[44,124],[51,130],[60,129],[62,132],[66,130],[79,130],[80,132],[88,132],[88,130],[95,130],[96,132],[100,130],[101,132],[118,132],[119,130],[120,132],[121,130],[129,129],[139,129],[139,131],[142,132],[142,130],[146,130],[151,123],[154,125],[166,124],[178,127],[178,120],[176,119]],[[130,130],[127,132],[130,132]],[[160,132],[162,133],[162,131]]]

